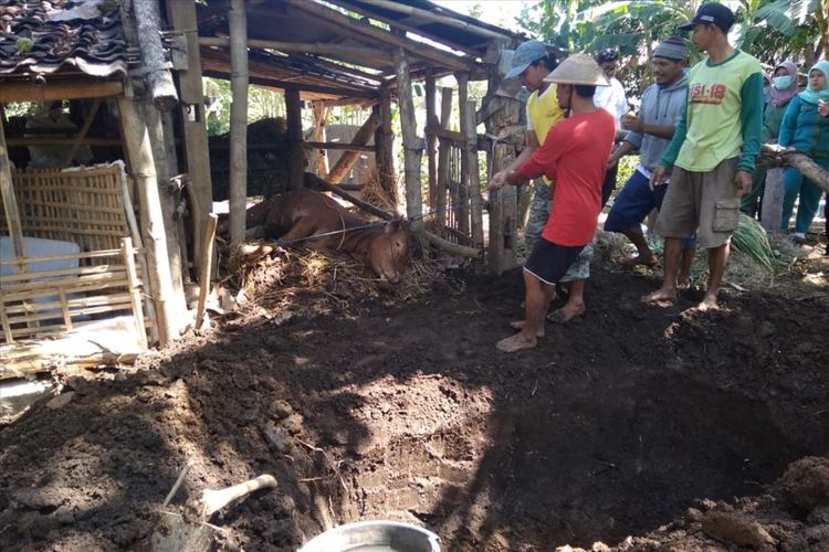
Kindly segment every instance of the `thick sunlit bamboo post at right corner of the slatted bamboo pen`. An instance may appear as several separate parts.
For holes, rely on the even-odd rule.
[[[172,283],[168,264],[167,238],[164,227],[161,201],[158,197],[153,147],[149,132],[138,115],[133,98],[119,97],[120,128],[138,195],[140,198],[141,227],[147,247],[149,295],[154,299],[156,326],[160,347],[166,347],[177,336],[177,305],[172,300]]]

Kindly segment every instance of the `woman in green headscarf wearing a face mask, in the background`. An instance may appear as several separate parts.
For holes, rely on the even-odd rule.
[[[763,144],[777,142],[783,116],[791,98],[797,95],[797,65],[791,62],[780,63],[775,67],[770,81],[772,86],[763,116],[763,130],[760,131],[760,141]],[[759,211],[759,202],[763,201],[763,192],[766,189],[767,171],[768,169],[765,167],[754,169],[754,173],[752,174],[752,193],[743,197],[739,209],[749,216],[754,216]]]

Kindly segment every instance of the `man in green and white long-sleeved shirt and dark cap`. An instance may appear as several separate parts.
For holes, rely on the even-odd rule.
[[[728,262],[731,235],[739,221],[739,197],[752,191],[763,118],[763,71],[757,60],[728,44],[734,13],[716,2],[702,4],[683,31],[707,57],[689,73],[688,108],[653,171],[662,185],[673,169],[657,221],[665,238],[662,287],[644,301],[676,297],[676,266],[684,238],[699,227],[709,250],[709,286],[699,308],[715,309]]]

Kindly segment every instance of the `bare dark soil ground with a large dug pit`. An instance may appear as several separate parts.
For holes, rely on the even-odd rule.
[[[168,510],[279,480],[211,520],[231,549],[380,518],[447,551],[829,550],[826,289],[700,314],[641,304],[655,286],[596,269],[587,315],[512,355],[517,270],[402,304],[329,286],[71,378],[0,429],[0,542],[145,549],[189,460]]]

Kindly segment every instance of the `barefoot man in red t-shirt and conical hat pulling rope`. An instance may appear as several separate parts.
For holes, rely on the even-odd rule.
[[[574,54],[550,73],[556,96],[569,117],[553,127],[544,140],[506,182],[521,185],[544,174],[556,182],[553,211],[542,238],[524,265],[526,316],[513,322],[521,330],[502,339],[496,347],[504,352],[535,347],[544,336],[544,315],[555,298],[555,285],[592,241],[601,212],[601,184],[616,135],[613,117],[592,103],[596,86],[608,82],[598,64],[586,54]],[[499,190],[503,183],[490,185]]]

